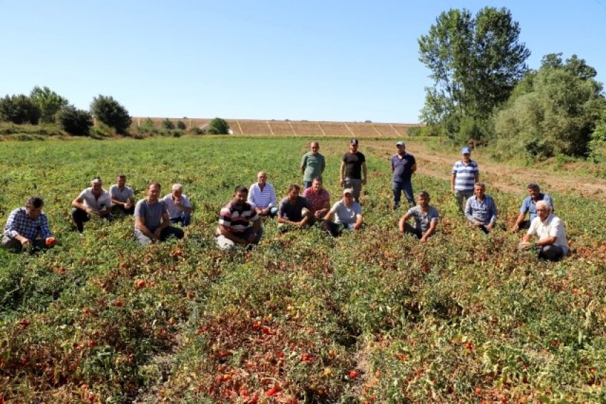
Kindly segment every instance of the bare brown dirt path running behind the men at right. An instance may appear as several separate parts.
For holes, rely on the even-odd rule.
[[[384,142],[373,143],[371,146],[376,152],[385,155],[386,159],[394,155],[396,147]],[[409,143],[406,151],[412,153],[417,160],[418,173],[442,179],[450,179],[453,163],[460,156],[452,153],[434,152],[427,150],[420,144]],[[541,170],[538,167],[509,167],[486,162],[479,153],[472,152],[472,158],[478,161],[481,171],[481,180],[488,187],[497,188],[503,192],[518,194],[525,193],[528,182],[538,182],[542,190],[574,193],[584,197],[592,197],[606,202],[606,180],[592,177],[572,175],[567,170]],[[571,165],[572,167],[572,165]]]

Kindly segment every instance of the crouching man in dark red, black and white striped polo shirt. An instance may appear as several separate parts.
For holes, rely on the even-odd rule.
[[[263,227],[260,216],[255,207],[246,202],[247,196],[247,187],[238,185],[233,199],[221,209],[215,238],[217,246],[224,251],[232,249],[236,244],[250,247],[261,241]]]

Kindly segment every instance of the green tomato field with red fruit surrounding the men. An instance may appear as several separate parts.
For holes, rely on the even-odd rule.
[[[0,142],[0,225],[40,195],[58,243],[0,249],[0,403],[597,403],[606,401],[606,203],[545,189],[566,225],[560,262],[518,252],[525,188],[493,186],[499,227],[466,224],[443,175],[414,176],[441,213],[426,244],[391,209],[394,140],[364,140],[364,229],[265,234],[224,253],[213,234],[237,185],[266,170],[278,199],[301,184],[309,138]],[[410,140],[423,148],[422,140]],[[319,139],[340,197],[346,139]],[[385,152],[384,150],[389,150]],[[480,157],[473,155],[482,168]],[[422,160],[421,160],[422,161]],[[91,220],[71,201],[123,172],[144,197],[174,182],[195,208],[186,238],[133,241],[133,218]],[[540,178],[528,178],[541,183]]]

